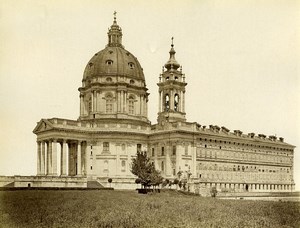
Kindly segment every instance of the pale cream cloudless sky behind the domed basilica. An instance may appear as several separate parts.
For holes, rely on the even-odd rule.
[[[0,175],[36,174],[41,118],[77,119],[83,71],[107,44],[113,12],[144,69],[156,123],[174,37],[187,120],[295,145],[300,190],[300,1],[0,1]]]

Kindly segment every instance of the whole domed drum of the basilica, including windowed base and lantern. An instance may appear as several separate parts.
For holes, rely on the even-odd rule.
[[[143,69],[122,45],[114,17],[108,44],[85,67],[80,92],[80,119],[148,126],[148,95]]]

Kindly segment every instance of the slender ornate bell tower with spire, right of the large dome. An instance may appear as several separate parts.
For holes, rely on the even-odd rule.
[[[175,50],[172,44],[170,58],[163,66],[162,73],[159,76],[159,112],[157,122],[177,122],[186,121],[185,118],[185,75],[182,73],[182,67],[175,59]],[[179,69],[179,70],[178,70]]]

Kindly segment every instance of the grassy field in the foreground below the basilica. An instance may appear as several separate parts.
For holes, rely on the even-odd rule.
[[[299,202],[177,192],[2,191],[0,227],[300,227]]]

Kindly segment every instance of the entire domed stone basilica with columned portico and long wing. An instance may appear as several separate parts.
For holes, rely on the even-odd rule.
[[[157,123],[150,123],[143,68],[122,36],[115,16],[107,45],[85,67],[78,119],[37,123],[37,176],[30,186],[85,188],[96,182],[106,187],[111,179],[115,189],[135,189],[131,161],[137,151],[147,151],[165,179],[185,180],[193,192],[294,190],[295,147],[282,137],[187,122],[187,80],[173,40],[157,74]],[[29,185],[21,179],[15,183]]]

